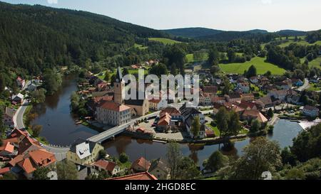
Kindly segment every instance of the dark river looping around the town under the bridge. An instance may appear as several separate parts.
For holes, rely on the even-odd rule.
[[[50,144],[70,145],[78,138],[87,139],[98,134],[97,131],[83,125],[76,125],[75,117],[70,113],[70,96],[77,90],[75,77],[67,76],[63,79],[61,89],[56,95],[46,97],[44,106],[38,110],[39,117],[34,119],[32,124],[41,124],[43,130],[41,136],[46,137]],[[292,145],[292,139],[302,130],[296,122],[279,120],[275,124],[275,129],[269,139],[279,142],[280,147]],[[248,145],[250,139],[235,142],[235,149],[228,153],[230,156],[242,156],[242,149]],[[103,144],[106,151],[111,156],[118,156],[125,152],[131,161],[140,156],[145,156],[148,160],[154,158],[165,158],[166,144],[156,143],[140,139],[131,139],[128,136],[118,136],[116,139]],[[222,145],[220,145],[222,146]],[[219,149],[219,145],[191,145],[180,144],[180,150],[184,156],[190,156],[193,160],[202,165],[203,161],[210,156],[213,151]]]

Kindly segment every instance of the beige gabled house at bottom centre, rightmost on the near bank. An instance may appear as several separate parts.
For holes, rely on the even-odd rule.
[[[170,177],[169,168],[166,166],[165,162],[158,158],[151,162],[151,167],[148,169],[148,173],[156,176],[158,180],[168,180]]]

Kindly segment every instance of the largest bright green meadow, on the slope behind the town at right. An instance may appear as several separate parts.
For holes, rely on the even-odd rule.
[[[255,57],[245,63],[229,63],[220,64],[220,69],[225,73],[238,73],[243,74],[245,70],[248,70],[251,65],[254,65],[258,75],[263,75],[265,72],[270,71],[272,75],[282,75],[285,70],[273,65],[272,63],[266,63],[265,58]]]

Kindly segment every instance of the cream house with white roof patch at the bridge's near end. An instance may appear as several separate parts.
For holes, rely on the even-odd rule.
[[[103,150],[103,146],[93,141],[78,139],[71,144],[70,150],[66,153],[67,161],[79,165],[93,163],[98,158],[99,151]]]

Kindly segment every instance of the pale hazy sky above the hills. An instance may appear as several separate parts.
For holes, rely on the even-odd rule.
[[[321,28],[320,0],[0,0],[90,11],[155,29],[225,31]]]

